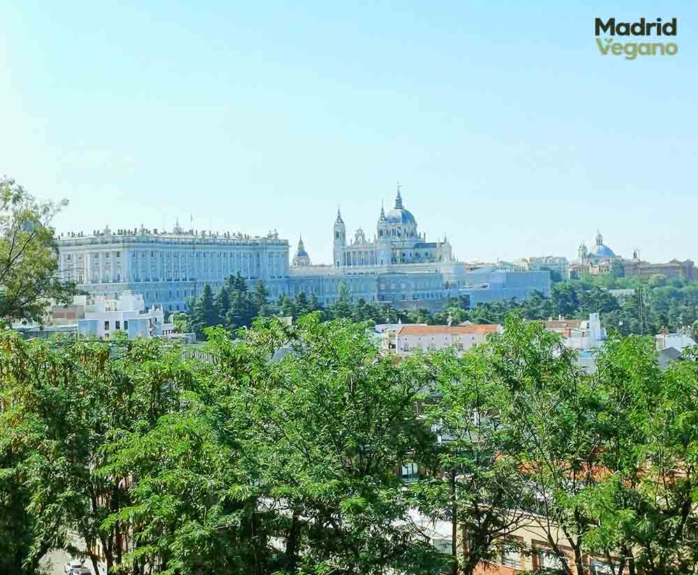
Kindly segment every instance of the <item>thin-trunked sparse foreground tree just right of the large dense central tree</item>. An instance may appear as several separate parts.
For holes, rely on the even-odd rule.
[[[415,486],[415,499],[426,516],[451,523],[452,572],[472,575],[510,544],[507,534],[528,522],[524,484],[514,458],[500,456],[507,429],[487,356],[480,350],[462,358],[441,352],[433,368],[426,424],[436,429],[438,447],[431,461],[424,460],[428,472]]]

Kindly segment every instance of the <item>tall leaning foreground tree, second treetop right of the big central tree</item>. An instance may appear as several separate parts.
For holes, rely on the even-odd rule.
[[[597,392],[557,334],[510,315],[490,340],[491,381],[499,389],[500,424],[510,443],[501,451],[526,487],[529,519],[547,539],[567,575],[584,573],[584,537],[593,525],[582,499],[597,483],[601,445]],[[573,566],[563,547],[572,549]]]

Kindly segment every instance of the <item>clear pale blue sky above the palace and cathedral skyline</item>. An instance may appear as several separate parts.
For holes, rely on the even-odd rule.
[[[97,4],[0,0],[0,174],[59,231],[193,214],[330,262],[400,180],[463,260],[698,258],[695,2]],[[679,52],[602,57],[597,16]]]

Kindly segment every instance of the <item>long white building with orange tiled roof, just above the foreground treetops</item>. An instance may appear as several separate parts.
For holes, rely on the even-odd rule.
[[[432,352],[453,347],[458,355],[484,343],[489,334],[501,334],[500,324],[420,325],[404,324],[396,332],[395,353]]]

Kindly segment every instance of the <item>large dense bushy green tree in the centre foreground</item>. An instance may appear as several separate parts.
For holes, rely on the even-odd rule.
[[[429,372],[419,359],[396,366],[379,357],[365,324],[322,323],[316,314],[294,327],[255,324],[244,356],[289,344],[292,354],[246,375],[244,412],[262,481],[276,507],[288,509],[280,570],[424,573],[435,553],[415,539],[396,469],[412,449],[433,442],[413,418]],[[221,353],[217,364],[239,378],[235,351]]]

